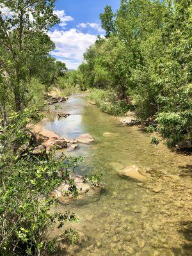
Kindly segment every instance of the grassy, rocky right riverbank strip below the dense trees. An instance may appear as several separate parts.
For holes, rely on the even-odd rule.
[[[116,95],[115,92],[93,89],[90,91],[88,99],[90,104],[96,105],[104,113],[118,116],[118,120],[121,124],[129,126],[138,125],[138,127],[141,127],[143,131],[152,134],[150,140],[151,143],[158,145],[160,142],[163,142],[172,150],[192,152],[192,140],[189,136],[186,136],[186,138],[183,136],[182,140],[180,139],[177,143],[173,143],[175,140],[173,138],[174,136],[168,138],[168,131],[166,132],[163,129],[163,125],[159,124],[157,116],[151,115],[146,117],[141,116],[141,113],[138,115],[135,103],[130,101],[128,104],[125,100],[119,100],[118,95]],[[168,119],[167,122],[170,122],[170,120]],[[173,129],[173,126],[177,127],[177,125],[177,122],[175,125],[171,125],[172,127],[170,127],[170,130]]]

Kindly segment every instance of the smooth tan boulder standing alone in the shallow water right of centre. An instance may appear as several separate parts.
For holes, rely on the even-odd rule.
[[[123,170],[118,171],[118,175],[133,180],[146,181],[147,177],[140,173],[140,169],[135,165],[127,166]]]

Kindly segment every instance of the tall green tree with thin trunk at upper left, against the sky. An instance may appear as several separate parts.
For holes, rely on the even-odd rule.
[[[54,49],[46,35],[59,21],[53,12],[54,2],[0,1],[0,69],[13,93],[17,112],[24,108],[31,68]]]

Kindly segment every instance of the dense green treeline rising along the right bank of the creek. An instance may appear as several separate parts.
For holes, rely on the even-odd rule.
[[[169,147],[192,137],[191,14],[191,0],[122,0],[116,13],[106,6],[106,36],[77,71],[83,88],[112,91],[112,105],[123,100],[155,120]]]

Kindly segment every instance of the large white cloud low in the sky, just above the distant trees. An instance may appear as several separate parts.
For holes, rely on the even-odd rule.
[[[97,36],[90,33],[82,33],[77,29],[60,31],[55,29],[49,31],[51,40],[56,44],[56,49],[52,55],[60,61],[64,61],[68,68],[77,68],[83,61],[83,53],[92,45]]]

